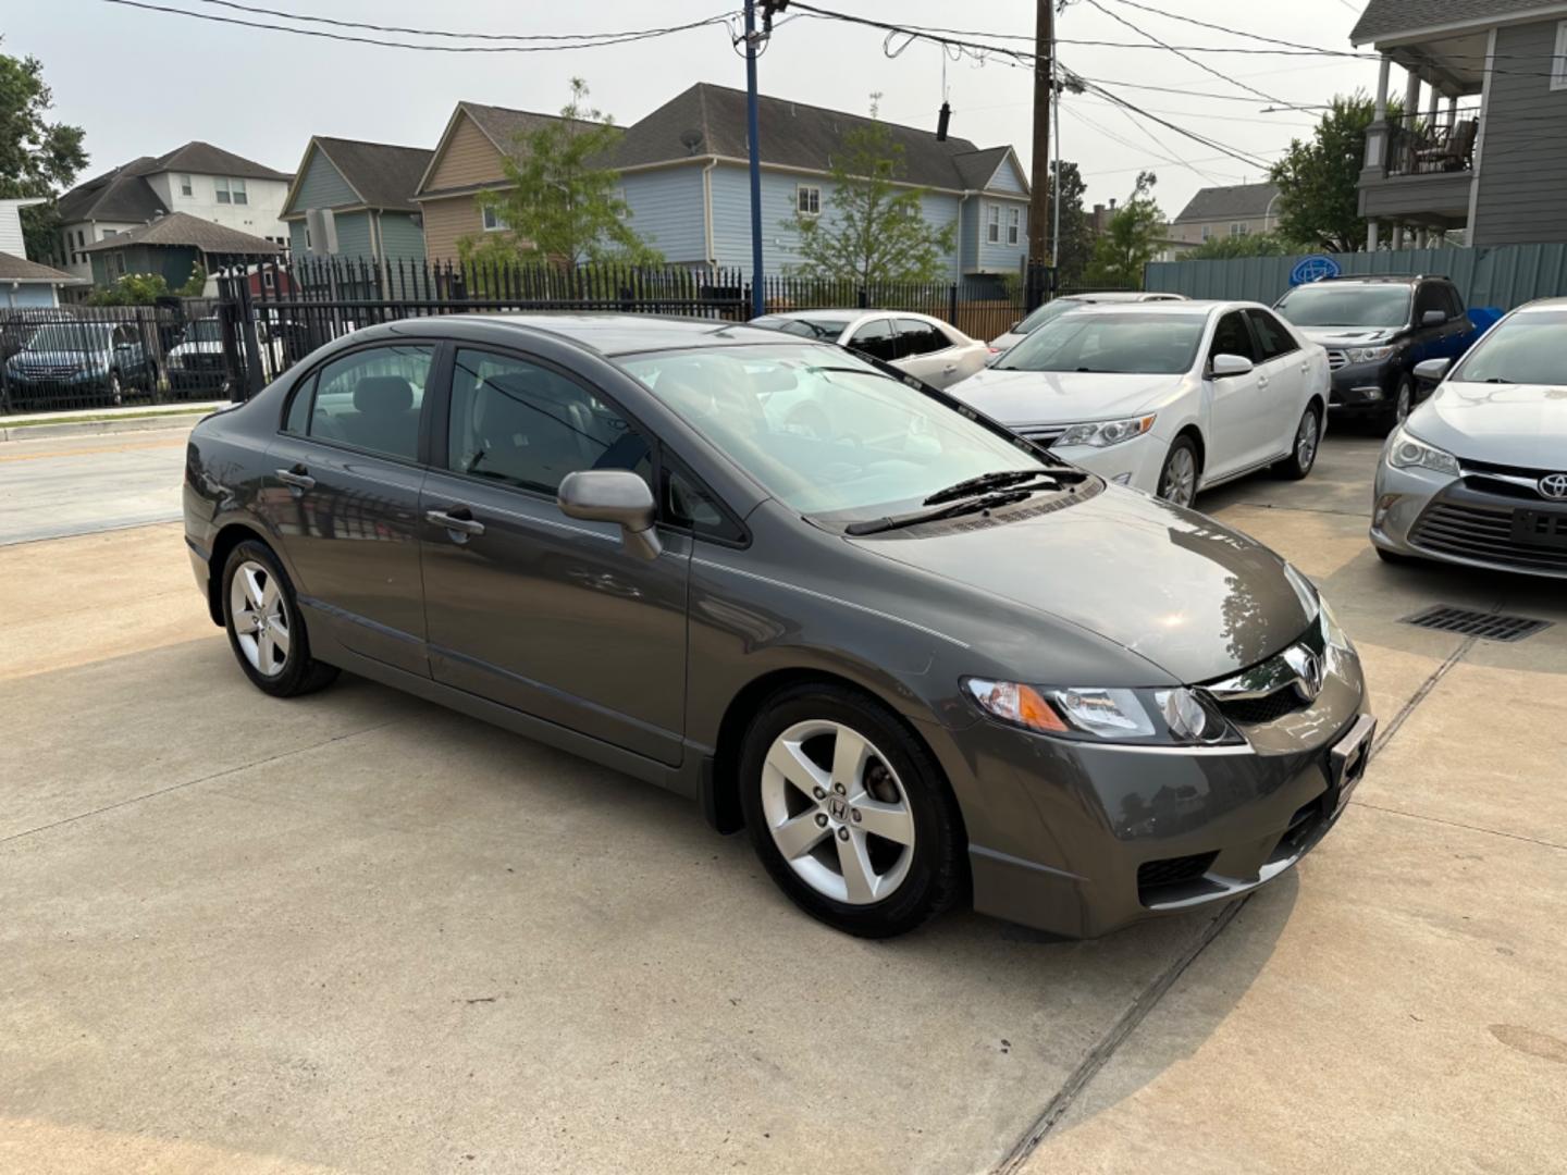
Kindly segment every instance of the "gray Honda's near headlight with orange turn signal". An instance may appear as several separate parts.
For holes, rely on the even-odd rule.
[[[1244,739],[1192,689],[1031,686],[965,677],[964,691],[990,718],[1084,743],[1233,746]]]

